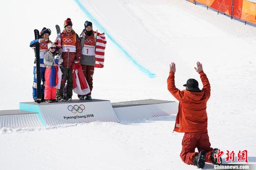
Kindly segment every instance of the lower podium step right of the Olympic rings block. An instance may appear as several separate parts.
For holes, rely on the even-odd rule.
[[[112,107],[121,122],[140,122],[178,112],[178,103],[155,99],[112,103]]]

